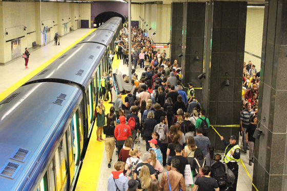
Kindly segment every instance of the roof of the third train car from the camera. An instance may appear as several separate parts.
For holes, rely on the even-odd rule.
[[[114,33],[106,30],[95,30],[79,43],[96,42],[108,46],[113,39]]]

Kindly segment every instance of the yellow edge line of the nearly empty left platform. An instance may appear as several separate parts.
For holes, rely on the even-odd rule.
[[[91,30],[90,32],[88,32],[87,34],[85,34],[84,36],[82,36],[81,38],[79,38],[78,40],[76,40],[74,43],[72,43],[71,45],[69,45],[68,47],[66,47],[66,49],[64,49],[63,51],[59,52],[58,54],[56,54],[55,56],[53,56],[51,59],[49,59],[47,62],[45,62],[44,64],[40,65],[39,67],[37,67],[36,69],[34,69],[33,71],[31,71],[31,73],[29,73],[27,76],[25,76],[24,78],[20,79],[18,82],[16,82],[15,84],[13,84],[12,86],[10,86],[9,88],[7,88],[6,90],[4,90],[2,93],[0,93],[0,102],[2,100],[4,100],[6,97],[8,97],[13,91],[15,91],[16,89],[18,89],[20,86],[22,86],[25,82],[27,82],[28,80],[30,80],[32,77],[34,77],[36,74],[39,73],[39,71],[43,70],[45,67],[47,67],[49,64],[51,64],[53,61],[55,61],[57,58],[59,58],[61,55],[63,55],[64,53],[66,53],[68,50],[70,50],[74,45],[76,45],[79,41],[83,40],[85,37],[87,37],[89,34],[91,34],[94,30]]]

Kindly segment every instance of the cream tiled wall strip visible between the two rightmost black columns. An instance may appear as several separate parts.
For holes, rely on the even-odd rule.
[[[263,19],[264,8],[247,8],[244,62],[248,64],[248,61],[251,60],[257,70],[261,65],[261,59],[258,57],[261,57]]]

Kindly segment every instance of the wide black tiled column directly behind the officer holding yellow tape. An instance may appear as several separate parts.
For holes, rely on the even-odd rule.
[[[247,2],[214,2],[211,63],[203,82],[203,108],[212,125],[239,125],[246,16]],[[216,129],[226,139],[239,136],[239,127]],[[225,149],[212,128],[209,138],[216,150]]]

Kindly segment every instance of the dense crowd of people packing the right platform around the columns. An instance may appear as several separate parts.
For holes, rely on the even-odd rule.
[[[115,148],[118,155],[115,171],[108,178],[108,190],[236,190],[241,151],[236,144],[236,136],[230,136],[229,141],[221,137],[227,146],[223,159],[214,153],[214,146],[208,138],[209,120],[194,96],[193,84],[188,83],[187,91],[183,89],[181,67],[177,61],[171,64],[165,52],[153,51],[150,39],[143,32],[137,27],[132,28],[131,49],[134,68],[139,64],[145,71],[139,77],[135,69],[132,70],[132,91],[124,90],[116,100],[111,100],[113,106],[108,114],[105,114],[108,111],[103,103],[109,101],[112,75],[104,73],[101,78],[101,99],[95,111],[97,140],[104,140],[101,137],[104,132],[108,168],[111,168]],[[123,30],[115,44],[117,59],[128,64],[128,36]],[[112,60],[114,55],[110,53],[109,57]],[[252,67],[251,75],[256,73]],[[123,79],[128,82],[127,75],[123,75]],[[242,84],[246,86],[247,82],[244,82]],[[259,79],[254,81],[245,94],[246,99],[242,100],[240,120],[244,153],[249,144],[251,162],[254,161],[255,141],[252,135],[257,123],[254,111],[258,110],[257,86]],[[126,97],[122,99],[124,94]],[[139,137],[146,141],[146,151],[140,151],[140,147],[134,145],[139,143]],[[193,172],[192,188],[185,183],[187,164]],[[163,168],[168,172],[163,173],[159,181],[158,175]],[[231,182],[222,178],[226,176],[227,169],[234,175]]]

